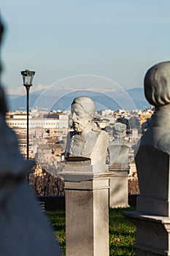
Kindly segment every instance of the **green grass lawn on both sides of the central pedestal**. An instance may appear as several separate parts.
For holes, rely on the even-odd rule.
[[[134,208],[109,209],[109,255],[110,256],[134,256],[136,227],[123,217],[122,211],[134,211]],[[55,237],[63,250],[66,252],[65,236],[65,211],[47,211]],[[88,256],[88,255],[87,255]]]

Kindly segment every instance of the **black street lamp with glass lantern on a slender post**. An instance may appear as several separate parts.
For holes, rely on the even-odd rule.
[[[26,87],[26,113],[27,113],[27,129],[26,129],[26,159],[29,159],[29,89],[32,86],[32,81],[35,75],[35,71],[26,69],[21,71],[23,75],[23,86]]]

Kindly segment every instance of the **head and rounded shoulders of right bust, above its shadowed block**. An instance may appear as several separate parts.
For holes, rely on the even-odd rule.
[[[147,71],[144,94],[148,102],[155,106],[155,113],[141,143],[148,143],[170,154],[170,61],[155,64]]]

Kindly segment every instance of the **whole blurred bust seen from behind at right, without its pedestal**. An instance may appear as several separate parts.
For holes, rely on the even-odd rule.
[[[170,61],[147,71],[144,94],[155,106],[155,113],[136,149],[140,189],[137,210],[169,217]]]

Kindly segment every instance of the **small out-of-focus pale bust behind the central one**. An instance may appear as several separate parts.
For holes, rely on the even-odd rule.
[[[125,169],[128,167],[128,151],[131,143],[125,140],[126,125],[115,123],[113,126],[115,140],[109,143],[109,166]]]

